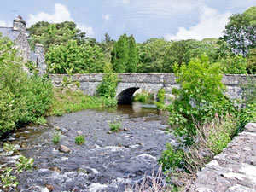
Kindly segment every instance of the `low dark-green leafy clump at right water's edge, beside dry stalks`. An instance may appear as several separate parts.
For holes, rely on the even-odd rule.
[[[174,171],[183,167],[183,150],[173,148],[172,144],[166,144],[166,150],[160,156],[158,162],[162,166],[163,171]]]

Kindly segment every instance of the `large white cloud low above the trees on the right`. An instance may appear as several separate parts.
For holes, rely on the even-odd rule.
[[[167,33],[165,38],[167,40],[219,38],[231,14],[229,12],[219,14],[216,9],[206,5],[202,5],[200,11],[200,21],[197,25],[190,26],[188,29],[179,27],[175,35]]]

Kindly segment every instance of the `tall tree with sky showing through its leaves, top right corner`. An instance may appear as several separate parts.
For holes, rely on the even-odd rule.
[[[230,44],[235,54],[247,56],[249,49],[256,48],[255,7],[248,9],[244,14],[230,16],[225,26],[224,40]]]

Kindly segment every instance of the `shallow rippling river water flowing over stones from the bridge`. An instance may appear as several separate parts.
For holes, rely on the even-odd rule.
[[[157,170],[157,160],[166,143],[174,143],[166,132],[167,117],[152,106],[133,103],[117,110],[86,110],[48,118],[48,124],[27,126],[7,137],[21,154],[34,158],[34,169],[18,176],[19,191],[125,191]],[[109,134],[109,121],[121,120],[123,131]],[[52,143],[56,127],[61,142]],[[84,145],[74,143],[79,134]],[[71,153],[61,153],[60,145]],[[1,157],[3,163],[11,158]],[[9,160],[9,161],[8,161]]]

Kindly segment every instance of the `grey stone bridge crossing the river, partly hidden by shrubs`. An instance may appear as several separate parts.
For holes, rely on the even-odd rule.
[[[50,75],[55,86],[61,86],[64,76]],[[86,95],[95,95],[98,84],[102,82],[102,74],[75,74],[72,76],[74,82],[80,83],[80,89]],[[252,76],[256,79],[256,76]],[[231,99],[241,98],[240,84],[242,80],[247,79],[246,75],[224,75],[223,82],[227,87],[227,95]],[[172,96],[172,89],[178,88],[175,81],[175,75],[171,73],[119,73],[119,84],[117,86],[117,98],[121,104],[129,104],[132,96],[137,90],[146,90],[154,93],[154,96],[160,90],[166,90],[166,97]]]

